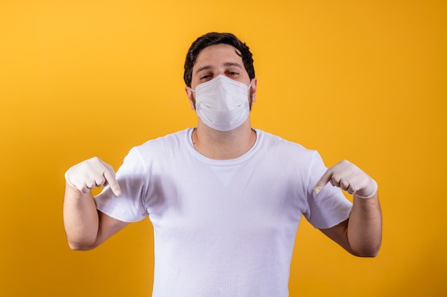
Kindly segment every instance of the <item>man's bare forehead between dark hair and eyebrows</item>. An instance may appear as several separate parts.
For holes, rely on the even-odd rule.
[[[235,62],[242,65],[242,58],[238,56],[238,50],[228,44],[215,44],[207,46],[197,56],[194,68],[204,65],[219,66],[223,63]]]

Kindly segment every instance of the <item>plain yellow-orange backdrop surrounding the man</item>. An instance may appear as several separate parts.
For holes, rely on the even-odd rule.
[[[64,172],[195,125],[186,51],[231,31],[254,54],[253,127],[379,184],[378,257],[303,222],[290,296],[447,296],[446,25],[446,1],[2,0],[0,295],[150,296],[149,220],[71,251]]]

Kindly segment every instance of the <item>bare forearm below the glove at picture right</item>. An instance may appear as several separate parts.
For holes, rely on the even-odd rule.
[[[368,199],[354,194],[348,222],[348,241],[358,256],[376,256],[382,241],[382,214],[378,194]]]

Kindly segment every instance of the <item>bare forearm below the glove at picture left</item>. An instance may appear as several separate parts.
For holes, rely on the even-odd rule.
[[[91,193],[82,193],[66,184],[64,227],[71,249],[92,249],[96,242],[99,217]]]

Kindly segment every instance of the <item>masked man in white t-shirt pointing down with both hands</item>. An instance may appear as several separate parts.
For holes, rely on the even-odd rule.
[[[197,127],[134,147],[116,177],[97,157],[66,172],[72,249],[93,249],[149,215],[154,297],[288,296],[302,215],[351,254],[376,256],[376,182],[346,160],[326,170],[317,152],[251,127],[257,80],[245,43],[199,37],[184,79]],[[104,184],[93,198],[90,189]]]

